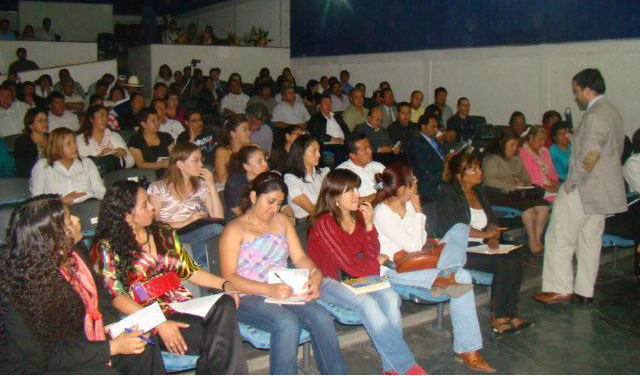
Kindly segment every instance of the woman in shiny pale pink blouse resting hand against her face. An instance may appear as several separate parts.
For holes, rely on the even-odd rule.
[[[222,219],[223,213],[200,148],[190,142],[173,148],[167,173],[151,183],[147,194],[156,220],[173,227],[180,240],[191,245],[196,263],[208,270],[207,241],[222,232],[222,225],[212,219]]]

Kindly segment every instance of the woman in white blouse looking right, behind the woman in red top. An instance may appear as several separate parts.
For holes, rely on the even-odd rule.
[[[291,145],[284,175],[289,189],[287,202],[298,219],[306,218],[315,211],[322,180],[329,173],[328,167],[318,168],[319,163],[318,140],[309,135],[299,136]]]

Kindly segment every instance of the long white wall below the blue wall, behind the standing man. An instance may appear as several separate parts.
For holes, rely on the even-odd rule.
[[[408,100],[417,89],[428,104],[433,90],[444,86],[454,110],[457,98],[469,97],[471,113],[486,116],[489,123],[506,124],[511,112],[520,110],[528,123],[539,124],[546,110],[569,107],[575,125],[581,114],[571,78],[596,67],[604,75],[607,96],[622,112],[626,133],[640,127],[640,39],[295,58],[291,64],[300,83],[347,69],[350,82],[365,83],[369,96],[381,81],[389,81],[396,101]]]

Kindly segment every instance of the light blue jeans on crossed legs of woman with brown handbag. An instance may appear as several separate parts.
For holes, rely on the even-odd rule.
[[[446,243],[436,269],[423,269],[413,272],[398,273],[385,268],[391,283],[430,289],[438,274],[456,273],[456,281],[472,283],[471,274],[461,267],[467,262],[467,241],[469,226],[458,223],[452,226],[442,238]],[[451,324],[453,326],[453,351],[457,354],[479,350],[482,348],[482,334],[476,313],[473,289],[459,298],[451,298],[449,303]]]

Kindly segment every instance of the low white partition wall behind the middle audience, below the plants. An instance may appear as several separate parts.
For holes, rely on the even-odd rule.
[[[191,64],[191,59],[202,61],[198,68],[205,75],[209,69],[219,67],[223,80],[238,72],[244,82],[251,83],[260,68],[267,67],[277,75],[290,63],[288,48],[152,44],[129,49],[129,72],[140,77],[145,85],[143,92],[148,95],[162,64],[171,70],[182,69]]]

